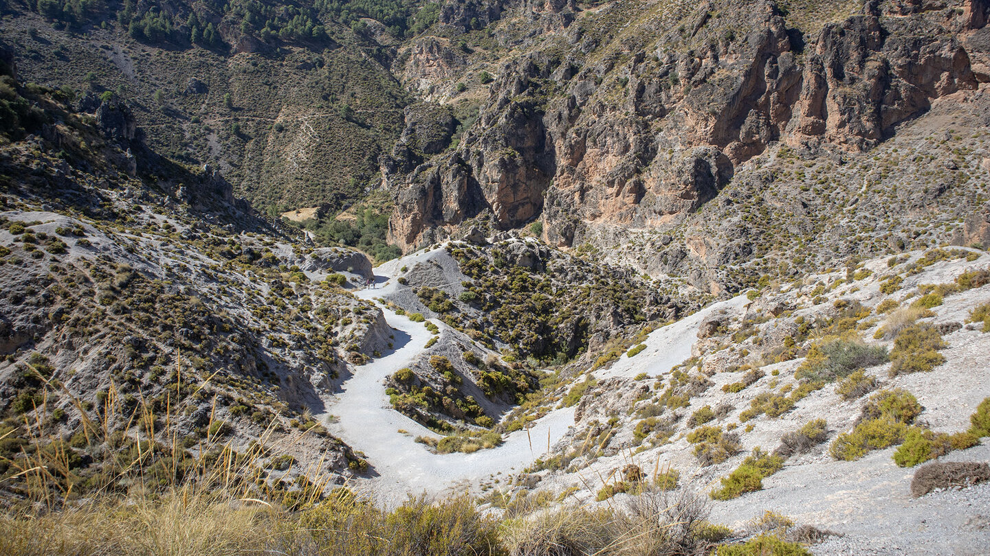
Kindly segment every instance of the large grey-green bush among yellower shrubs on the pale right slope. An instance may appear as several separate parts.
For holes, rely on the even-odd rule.
[[[794,376],[806,382],[833,382],[856,369],[887,362],[887,348],[866,345],[851,335],[816,341]]]

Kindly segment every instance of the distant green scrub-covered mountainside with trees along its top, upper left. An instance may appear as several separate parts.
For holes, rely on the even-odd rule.
[[[66,23],[8,3],[2,38],[26,81],[116,92],[155,151],[217,167],[258,209],[336,211],[364,195],[407,102],[364,32],[312,6],[235,2],[218,12],[212,2],[154,2],[133,17],[173,23],[167,34],[146,34],[115,21],[127,11],[115,4]],[[355,20],[360,13],[354,8]],[[190,43],[195,18],[216,27],[215,44]],[[318,38],[293,27],[313,21],[323,22]]]

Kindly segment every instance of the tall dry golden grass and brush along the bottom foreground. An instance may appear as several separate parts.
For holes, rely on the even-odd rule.
[[[264,461],[289,446],[268,446],[273,427],[238,452],[215,433],[214,406],[206,437],[185,446],[178,417],[209,378],[177,385],[160,415],[144,401],[128,411],[115,388],[87,412],[45,380],[41,406],[19,430],[33,447],[6,462],[0,484],[21,495],[0,510],[3,555],[625,556],[702,554],[712,546],[701,532],[707,499],[687,489],[647,488],[607,509],[534,503],[498,515],[462,494],[410,498],[385,510],[335,487],[323,462],[306,469],[297,487],[276,489],[284,475],[268,475]],[[55,391],[77,407],[99,473],[81,473],[78,454],[44,418]]]

